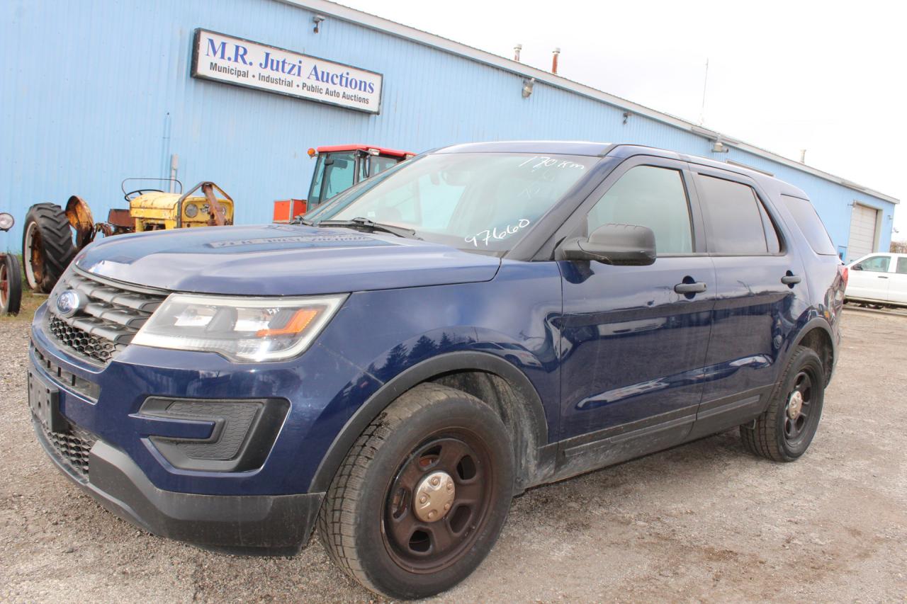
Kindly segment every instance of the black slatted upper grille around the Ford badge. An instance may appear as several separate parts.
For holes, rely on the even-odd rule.
[[[59,317],[56,298],[67,289],[81,292],[88,303],[73,317]],[[71,268],[47,300],[47,331],[73,353],[107,365],[129,346],[164,297],[166,292],[128,289]]]

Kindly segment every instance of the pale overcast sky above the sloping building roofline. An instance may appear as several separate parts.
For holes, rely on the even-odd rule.
[[[426,2],[340,4],[551,69],[880,190],[904,202],[907,50],[893,2]],[[629,141],[627,141],[629,142]]]

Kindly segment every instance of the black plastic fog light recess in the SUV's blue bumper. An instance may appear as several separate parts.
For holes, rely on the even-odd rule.
[[[265,463],[287,417],[286,399],[196,399],[151,396],[139,416],[179,422],[211,422],[208,438],[150,435],[148,440],[180,470],[244,472]]]

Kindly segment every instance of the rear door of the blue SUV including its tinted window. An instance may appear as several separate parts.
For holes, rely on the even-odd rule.
[[[690,169],[717,281],[695,436],[761,412],[808,294],[803,263],[785,245],[781,222],[756,181],[697,164]]]

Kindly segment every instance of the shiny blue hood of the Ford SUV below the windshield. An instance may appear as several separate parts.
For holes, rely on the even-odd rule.
[[[384,233],[263,225],[117,235],[85,248],[75,264],[161,289],[303,296],[488,281],[501,260]]]

